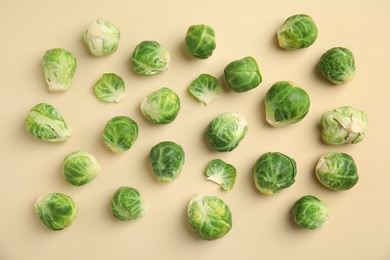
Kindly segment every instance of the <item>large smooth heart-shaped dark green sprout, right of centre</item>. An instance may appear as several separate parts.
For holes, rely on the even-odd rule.
[[[291,81],[276,82],[265,96],[266,120],[273,127],[301,121],[309,108],[309,95]]]

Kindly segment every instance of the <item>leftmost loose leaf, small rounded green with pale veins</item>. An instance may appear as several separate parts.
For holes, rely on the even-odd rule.
[[[95,95],[105,102],[120,102],[125,97],[125,82],[115,73],[103,74],[95,83]]]

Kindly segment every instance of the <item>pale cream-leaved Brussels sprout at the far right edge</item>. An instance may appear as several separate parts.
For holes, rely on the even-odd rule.
[[[357,144],[366,135],[367,115],[351,106],[336,108],[321,116],[322,140],[326,144]]]

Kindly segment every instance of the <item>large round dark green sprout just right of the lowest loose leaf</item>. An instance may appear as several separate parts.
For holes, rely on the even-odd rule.
[[[264,195],[276,195],[290,187],[296,175],[295,160],[278,152],[261,155],[253,171],[255,186]]]

